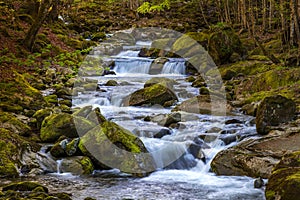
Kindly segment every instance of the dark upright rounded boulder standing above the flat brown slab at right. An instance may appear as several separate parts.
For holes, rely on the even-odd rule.
[[[259,134],[268,134],[270,126],[278,126],[295,117],[296,103],[281,95],[266,97],[256,113],[256,129]]]

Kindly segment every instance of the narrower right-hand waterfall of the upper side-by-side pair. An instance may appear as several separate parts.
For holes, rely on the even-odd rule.
[[[174,59],[166,62],[161,71],[162,74],[185,74],[185,61]]]

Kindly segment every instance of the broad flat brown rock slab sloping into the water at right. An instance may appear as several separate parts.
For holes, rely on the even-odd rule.
[[[272,168],[287,151],[299,150],[300,128],[285,128],[219,152],[211,163],[212,170],[217,175],[269,178]]]

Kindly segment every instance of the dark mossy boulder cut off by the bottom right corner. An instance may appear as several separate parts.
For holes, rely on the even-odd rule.
[[[300,196],[300,152],[287,154],[272,171],[266,187],[267,200],[294,200]]]

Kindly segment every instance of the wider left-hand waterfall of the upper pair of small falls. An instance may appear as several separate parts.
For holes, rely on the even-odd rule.
[[[118,74],[148,74],[152,61],[145,58],[116,59],[114,71]]]

